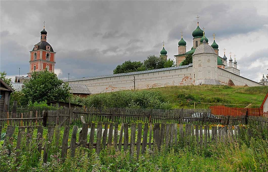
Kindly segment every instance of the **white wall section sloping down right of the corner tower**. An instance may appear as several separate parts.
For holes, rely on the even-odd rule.
[[[222,68],[218,68],[218,78],[219,78],[219,81],[223,84],[223,85],[227,85],[229,80],[231,79],[234,83],[234,85],[236,86],[244,86],[244,85],[248,85],[248,86],[261,86],[262,84],[259,84],[257,82],[254,82],[250,79],[246,79],[242,76],[239,76],[239,75],[236,75],[236,74],[233,74],[231,72],[228,72]]]

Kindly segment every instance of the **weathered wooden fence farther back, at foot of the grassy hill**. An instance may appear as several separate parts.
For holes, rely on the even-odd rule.
[[[61,108],[46,111],[27,111],[21,113],[3,112],[0,125],[32,126],[32,125],[70,125],[84,117],[86,123],[117,122],[133,123],[193,123],[197,125],[247,124],[251,115],[213,115],[210,109],[136,109],[136,108],[95,108],[73,109]],[[256,116],[256,115],[253,115]],[[266,118],[267,119],[267,118]],[[267,120],[263,120],[267,122]]]

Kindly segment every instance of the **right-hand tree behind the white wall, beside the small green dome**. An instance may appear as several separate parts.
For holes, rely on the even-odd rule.
[[[165,57],[159,57],[155,55],[147,56],[147,59],[143,62],[146,70],[169,68],[175,66],[174,61]]]

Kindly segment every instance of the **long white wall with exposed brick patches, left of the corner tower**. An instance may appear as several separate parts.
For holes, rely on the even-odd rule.
[[[70,81],[70,84],[85,84],[91,93],[111,92],[117,90],[146,89],[172,85],[192,85],[193,68],[179,68],[166,71],[155,71],[143,74],[103,77],[80,81]],[[66,82],[66,81],[65,81]]]

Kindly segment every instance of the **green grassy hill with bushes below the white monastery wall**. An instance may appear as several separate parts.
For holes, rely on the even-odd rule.
[[[102,93],[88,96],[87,98],[73,97],[73,103],[87,107],[136,107],[136,108],[208,108],[213,104],[245,104],[225,105],[229,107],[257,108],[264,99],[268,88],[259,87],[230,87],[219,85],[201,86],[169,86],[151,88],[146,90],[125,90],[112,93]]]

